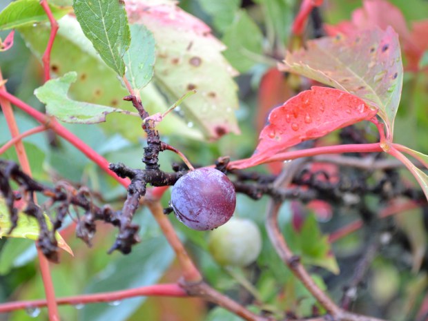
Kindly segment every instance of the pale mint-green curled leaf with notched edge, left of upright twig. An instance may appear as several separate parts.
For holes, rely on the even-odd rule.
[[[106,115],[126,110],[75,101],[68,98],[68,90],[77,79],[77,72],[68,72],[63,77],[51,79],[35,90],[35,95],[46,104],[46,112],[66,123],[95,124],[106,121]]]

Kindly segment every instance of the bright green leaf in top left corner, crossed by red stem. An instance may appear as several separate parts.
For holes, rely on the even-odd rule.
[[[59,8],[49,4],[55,19],[63,17],[71,8]],[[30,26],[33,23],[49,21],[45,10],[40,6],[39,0],[13,1],[0,12],[0,30]]]

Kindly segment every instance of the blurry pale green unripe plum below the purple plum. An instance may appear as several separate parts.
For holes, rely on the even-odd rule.
[[[209,249],[220,265],[247,266],[262,251],[262,235],[253,221],[233,217],[210,233]]]

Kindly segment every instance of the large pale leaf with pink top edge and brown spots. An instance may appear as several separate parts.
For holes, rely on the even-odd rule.
[[[171,101],[197,90],[180,106],[189,124],[199,125],[211,139],[238,133],[233,113],[238,106],[232,79],[236,74],[220,53],[224,45],[210,28],[174,4],[129,1],[127,10],[130,23],[142,23],[153,32],[155,81]]]

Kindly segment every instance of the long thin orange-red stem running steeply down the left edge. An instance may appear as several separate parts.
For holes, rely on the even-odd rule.
[[[1,70],[0,70],[0,83],[2,80],[3,80],[3,76],[1,75]],[[0,94],[2,93],[7,94],[5,86],[0,86]],[[12,106],[10,106],[10,101],[8,101],[7,99],[4,99],[3,97],[0,97],[0,105],[1,105],[1,110],[3,110],[3,114],[6,118],[6,122],[8,123],[8,126],[9,126],[10,135],[12,136],[12,139],[13,139],[14,137],[19,136],[19,128],[17,126],[17,121],[15,121],[15,118],[14,118]],[[15,146],[15,150],[17,150],[19,164],[21,164],[23,171],[28,175],[32,176],[30,162],[28,162],[28,157],[27,157],[26,150],[23,146],[23,142],[18,139],[17,142],[15,142],[14,146]],[[52,283],[52,278],[50,277],[49,262],[48,262],[48,259],[46,259],[45,255],[43,255],[43,253],[39,249],[38,245],[37,245],[37,256],[39,257],[41,278],[43,280],[46,299],[48,301],[49,320],[59,321],[58,307],[55,299],[55,289]]]

